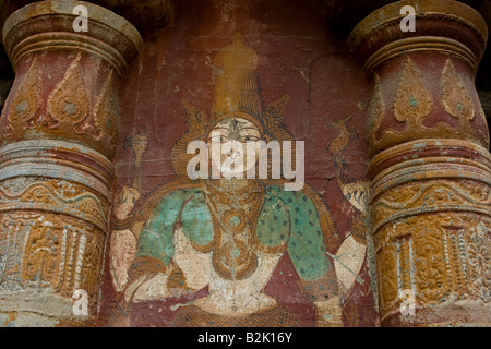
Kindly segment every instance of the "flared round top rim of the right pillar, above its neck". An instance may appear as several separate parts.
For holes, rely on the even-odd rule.
[[[415,9],[415,32],[403,32],[400,14],[405,5]],[[441,52],[463,60],[475,72],[488,39],[482,16],[467,4],[454,0],[398,1],[369,14],[352,29],[348,45],[371,75],[385,62],[417,52]]]

